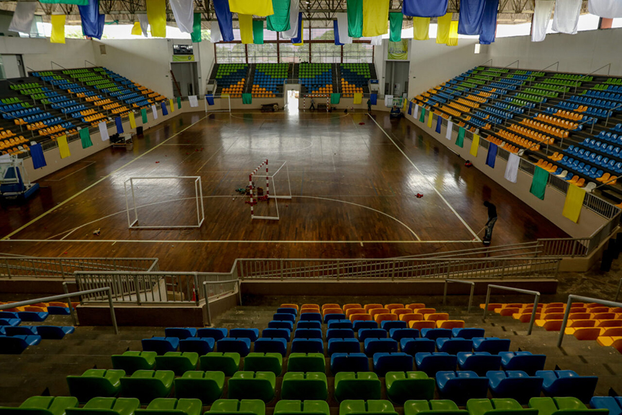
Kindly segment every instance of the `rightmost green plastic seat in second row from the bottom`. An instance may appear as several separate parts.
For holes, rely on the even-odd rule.
[[[384,382],[386,395],[395,403],[403,404],[409,399],[434,398],[436,381],[422,371],[387,372]]]

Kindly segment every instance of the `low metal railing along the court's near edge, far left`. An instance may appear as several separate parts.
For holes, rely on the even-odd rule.
[[[0,257],[1,278],[73,279],[76,271],[158,271],[157,258]]]

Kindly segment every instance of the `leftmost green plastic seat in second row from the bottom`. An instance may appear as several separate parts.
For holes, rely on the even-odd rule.
[[[88,369],[82,376],[67,376],[69,394],[86,403],[91,398],[112,398],[121,390],[124,370]]]

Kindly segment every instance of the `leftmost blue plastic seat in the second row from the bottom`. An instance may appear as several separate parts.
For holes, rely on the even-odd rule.
[[[451,399],[457,405],[465,405],[471,398],[486,398],[488,378],[474,371],[439,371],[436,386],[442,399]]]

